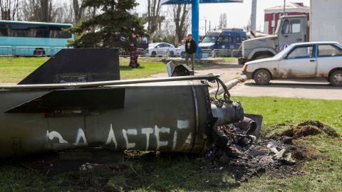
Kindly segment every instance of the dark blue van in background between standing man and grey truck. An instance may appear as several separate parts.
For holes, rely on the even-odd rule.
[[[247,39],[242,29],[227,29],[223,31],[208,32],[199,47],[202,49],[239,49],[242,41]]]

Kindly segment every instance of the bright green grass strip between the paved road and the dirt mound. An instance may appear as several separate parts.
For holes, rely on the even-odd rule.
[[[342,134],[342,100],[314,100],[282,97],[232,97],[247,113],[262,114],[263,127],[283,122],[299,123],[316,119],[335,127]]]

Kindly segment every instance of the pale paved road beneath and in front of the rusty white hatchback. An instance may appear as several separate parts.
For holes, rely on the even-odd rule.
[[[240,76],[242,65],[215,65],[214,68],[195,68],[195,75],[208,73],[222,74],[221,79],[228,82]],[[166,77],[166,73],[153,77]],[[215,84],[211,84],[215,87]],[[249,97],[303,97],[323,100],[342,100],[342,87],[333,87],[324,79],[319,80],[271,80],[269,85],[257,85],[254,80],[240,83],[230,90],[231,95]]]

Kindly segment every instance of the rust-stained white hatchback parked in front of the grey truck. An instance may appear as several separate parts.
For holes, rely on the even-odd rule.
[[[258,85],[285,78],[326,78],[342,86],[342,46],[337,42],[294,43],[273,58],[244,64],[242,73]]]

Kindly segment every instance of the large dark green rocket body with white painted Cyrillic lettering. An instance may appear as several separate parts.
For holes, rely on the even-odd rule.
[[[87,62],[90,50],[74,55]],[[0,87],[0,159],[84,148],[202,153],[212,144],[247,145],[259,134],[260,122],[244,117],[219,75],[103,81],[108,69],[97,76],[95,69],[72,71],[73,61],[58,64],[60,56],[24,83]],[[51,62],[58,70],[46,70]],[[46,73],[53,78],[40,83]],[[224,97],[210,97],[208,82],[221,85]]]

